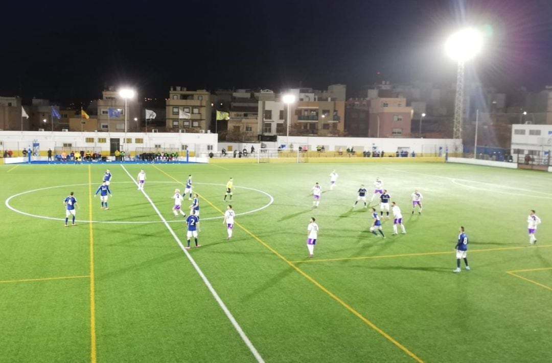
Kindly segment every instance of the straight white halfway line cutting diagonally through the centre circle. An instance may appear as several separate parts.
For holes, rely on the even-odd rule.
[[[136,184],[136,186],[138,185],[138,183],[136,183],[136,181],[134,180],[134,178],[132,178],[132,175],[130,175],[130,173],[128,172],[128,170],[126,170],[126,168],[121,165],[121,168],[123,168],[123,170],[125,170],[125,173],[129,175],[129,178]],[[199,276],[201,277],[201,280],[203,280],[203,282],[205,283],[205,285],[207,286],[207,288],[209,289],[209,291],[211,292],[211,294],[213,294],[213,297],[215,298],[216,302],[219,303],[219,306],[221,307],[222,311],[224,311],[224,313],[226,314],[226,317],[230,320],[230,322],[232,323],[233,327],[236,329],[236,331],[238,332],[238,334],[240,334],[240,337],[242,338],[243,342],[247,345],[247,348],[249,348],[249,350],[251,351],[251,353],[253,354],[253,356],[255,357],[255,359],[257,359],[257,361],[259,363],[264,363],[264,360],[263,360],[263,357],[261,357],[261,355],[259,354],[259,352],[257,351],[257,349],[253,346],[253,343],[251,343],[251,340],[249,340],[249,338],[247,338],[247,335],[245,335],[245,333],[243,332],[242,328],[240,327],[240,324],[238,324],[238,322],[236,321],[236,319],[233,317],[232,313],[230,312],[230,310],[226,307],[225,303],[222,301],[222,299],[220,298],[219,294],[216,293],[215,289],[213,288],[213,285],[211,285],[211,283],[209,282],[209,280],[207,279],[207,277],[205,277],[205,275],[203,274],[203,271],[201,271],[201,269],[199,268],[198,264],[195,263],[195,260],[192,258],[192,255],[190,255],[188,253],[188,251],[184,248],[184,245],[182,244],[182,242],[180,241],[180,239],[178,238],[178,236],[176,235],[176,233],[174,233],[173,229],[171,228],[171,226],[169,226],[169,224],[167,223],[167,221],[165,220],[165,218],[163,217],[163,215],[161,214],[161,212],[157,209],[157,207],[155,206],[155,204],[153,203],[153,201],[150,199],[150,196],[148,196],[146,194],[146,192],[144,190],[141,190],[142,191],[142,194],[144,194],[144,196],[146,197],[146,199],[148,200],[148,202],[150,202],[151,206],[153,207],[153,210],[156,211],[157,215],[161,218],[161,221],[163,221],[165,227],[167,227],[167,229],[169,230],[169,232],[171,232],[172,236],[174,237],[174,240],[178,243],[178,245],[180,246],[180,248],[182,249],[182,251],[184,252],[184,254],[186,255],[186,257],[188,258],[188,260],[190,261],[190,263],[192,263],[192,266],[194,266],[194,269],[195,271],[197,271],[197,273],[199,274]]]

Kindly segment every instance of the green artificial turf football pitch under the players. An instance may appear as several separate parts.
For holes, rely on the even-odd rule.
[[[550,174],[440,163],[125,168],[133,178],[146,170],[147,195],[183,243],[171,196],[193,174],[203,247],[189,253],[267,362],[552,361]],[[105,211],[90,193],[104,165],[0,167],[2,200],[40,216],[3,207],[0,361],[256,361],[145,195],[120,165],[111,169]],[[274,202],[238,215],[226,241],[229,177],[236,213]],[[407,234],[391,236],[385,220],[387,238],[373,236],[368,210],[351,209],[375,177]],[[312,209],[316,181],[323,194]],[[411,215],[416,188],[421,216]],[[65,228],[70,191],[79,222]],[[543,221],[535,247],[529,209]],[[311,260],[310,217],[320,227]],[[471,271],[454,274],[460,225]]]

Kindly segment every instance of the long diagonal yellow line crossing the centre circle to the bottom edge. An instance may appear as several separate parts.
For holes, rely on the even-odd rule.
[[[158,168],[157,166],[153,166],[154,168],[160,170],[160,172],[162,172],[163,174],[167,175],[167,177],[177,181],[177,183],[180,183],[182,185],[185,185],[184,183],[182,183],[181,181],[179,181],[178,179],[172,177],[172,175],[169,175],[167,174],[166,172],[164,172],[163,170],[161,170],[160,168]],[[198,193],[199,195],[199,193]],[[203,199],[207,204],[209,204],[211,207],[213,207],[215,210],[219,211],[220,213],[224,214],[224,212],[222,212],[217,206],[215,206],[213,203],[211,203],[209,200],[205,199],[203,196],[199,195],[201,197],[201,199]],[[357,318],[359,318],[360,320],[362,320],[365,324],[367,324],[370,328],[374,329],[376,332],[378,332],[379,334],[383,335],[383,337],[389,341],[391,341],[391,343],[395,344],[398,348],[400,348],[402,351],[404,351],[407,355],[409,355],[410,357],[412,357],[412,359],[416,360],[417,362],[419,363],[423,363],[423,360],[420,359],[420,357],[418,357],[416,354],[412,353],[410,350],[408,350],[404,345],[402,345],[401,343],[399,343],[398,341],[396,341],[395,339],[393,339],[391,337],[391,335],[385,333],[383,330],[381,330],[380,328],[378,328],[374,323],[372,323],[371,321],[369,321],[367,318],[365,318],[364,316],[362,316],[362,314],[360,314],[358,311],[356,311],[354,308],[352,308],[350,305],[348,305],[346,302],[344,302],[343,300],[341,300],[341,298],[337,297],[333,292],[331,292],[330,290],[326,289],[326,287],[322,286],[320,284],[320,282],[316,281],[315,279],[313,279],[311,276],[307,275],[303,270],[301,270],[298,266],[294,265],[293,263],[291,263],[288,259],[286,259],[283,255],[281,255],[277,250],[275,250],[274,248],[270,247],[270,245],[266,242],[264,242],[261,238],[257,237],[255,234],[253,234],[251,231],[249,231],[247,228],[243,227],[240,223],[237,223],[237,222],[234,222],[234,224],[238,227],[240,227],[244,232],[246,232],[247,234],[249,234],[251,237],[253,237],[257,242],[261,243],[264,247],[266,247],[270,252],[272,252],[273,254],[277,255],[281,260],[283,260],[286,264],[288,264],[291,268],[293,268],[295,271],[297,271],[299,274],[301,274],[303,277],[305,277],[307,280],[309,280],[310,282],[312,282],[312,284],[314,284],[316,287],[318,287],[320,290],[322,290],[323,292],[325,292],[328,296],[330,296],[331,298],[333,298],[333,300],[337,301],[341,306],[343,306],[344,308],[346,308],[349,312],[353,313],[354,316],[356,316]]]

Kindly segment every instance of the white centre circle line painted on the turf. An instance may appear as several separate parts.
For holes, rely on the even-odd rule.
[[[115,183],[124,184],[124,183],[133,183],[133,182],[132,181],[114,181],[111,184],[115,184]],[[175,181],[150,181],[148,183],[176,184]],[[195,183],[195,184],[225,186],[224,184],[213,184],[213,183]],[[32,214],[32,213],[27,213],[27,212],[20,211],[18,209],[15,209],[14,207],[12,207],[9,204],[9,201],[12,200],[12,198],[14,198],[14,197],[17,197],[17,196],[20,196],[20,195],[23,195],[23,194],[34,193],[35,191],[41,191],[41,190],[46,190],[46,189],[55,189],[55,188],[68,188],[70,186],[80,186],[80,185],[88,185],[88,183],[87,184],[48,186],[46,188],[23,191],[22,193],[14,194],[14,195],[8,197],[8,199],[6,199],[5,204],[6,204],[6,207],[8,207],[8,209],[10,209],[10,210],[12,210],[16,213],[20,213],[22,215],[25,215],[25,216],[35,217],[35,218],[42,218],[42,219],[45,219],[45,220],[52,220],[52,221],[65,221],[65,218],[39,216],[39,215],[35,215],[35,214]],[[270,206],[274,202],[274,197],[272,195],[268,194],[266,191],[262,191],[262,190],[258,190],[258,189],[254,189],[254,188],[247,188],[246,186],[236,186],[235,188],[241,188],[241,189],[248,189],[248,190],[257,191],[258,193],[264,194],[264,195],[266,195],[270,198],[270,201],[268,202],[268,204],[266,204],[266,205],[264,205],[260,208],[254,209],[252,211],[236,213],[236,216],[242,216],[242,215],[246,215],[246,214],[261,211],[261,210],[267,208],[268,206]],[[202,221],[209,221],[209,220],[217,220],[217,219],[222,219],[222,218],[224,218],[224,216],[201,218],[201,220]],[[128,223],[163,223],[163,221],[84,221],[84,220],[76,220],[76,222],[79,222],[79,223],[91,223],[91,222],[92,223],[123,223],[123,224],[128,224]],[[180,221],[167,221],[167,223],[178,223],[178,222],[180,222]]]

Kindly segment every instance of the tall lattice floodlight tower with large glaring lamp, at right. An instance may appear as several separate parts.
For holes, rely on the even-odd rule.
[[[480,31],[466,28],[449,36],[445,43],[445,52],[458,62],[456,78],[456,96],[454,99],[454,129],[453,138],[462,138],[462,119],[464,116],[464,65],[474,58],[483,46],[483,36]]]

